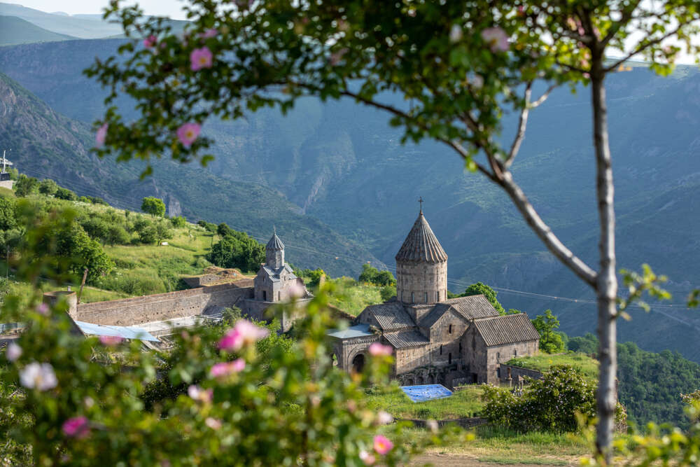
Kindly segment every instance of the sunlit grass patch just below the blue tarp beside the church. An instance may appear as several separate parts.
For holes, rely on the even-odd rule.
[[[368,393],[365,400],[370,409],[384,410],[394,418],[445,420],[474,417],[483,407],[481,394],[482,389],[475,384],[448,398],[413,402],[398,386],[391,386]]]

